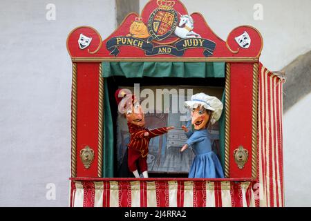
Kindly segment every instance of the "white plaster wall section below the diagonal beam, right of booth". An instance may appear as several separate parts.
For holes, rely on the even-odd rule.
[[[283,117],[286,206],[311,206],[311,93]]]

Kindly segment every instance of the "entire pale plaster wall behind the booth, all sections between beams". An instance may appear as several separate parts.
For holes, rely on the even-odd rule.
[[[130,0],[131,1],[131,0]],[[71,62],[66,37],[77,26],[93,26],[102,38],[116,26],[113,0],[3,1],[0,8],[0,206],[68,206],[70,175]],[[140,7],[146,3],[140,1]],[[226,39],[236,26],[258,28],[261,61],[281,70],[311,49],[311,1],[184,0]],[[46,5],[56,20],[46,20]],[[255,3],[263,20],[254,20]],[[297,85],[299,87],[299,85]],[[311,206],[310,105],[303,97],[284,115],[285,205]],[[46,184],[56,186],[47,200]]]

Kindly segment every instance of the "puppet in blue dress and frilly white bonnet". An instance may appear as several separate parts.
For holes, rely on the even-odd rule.
[[[205,93],[193,95],[191,101],[185,103],[191,108],[194,131],[182,126],[188,140],[180,151],[185,151],[190,146],[196,155],[191,164],[189,178],[223,178],[223,168],[217,155],[211,150],[211,134],[208,131],[209,124],[214,124],[220,118],[223,104],[217,97]]]

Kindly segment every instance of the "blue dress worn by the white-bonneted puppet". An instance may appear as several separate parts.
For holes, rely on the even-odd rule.
[[[207,129],[189,131],[186,142],[192,148],[194,161],[191,164],[189,178],[223,178],[223,168],[217,155],[211,150],[211,135]]]

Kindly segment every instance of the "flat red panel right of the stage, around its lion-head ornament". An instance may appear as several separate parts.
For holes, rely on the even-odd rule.
[[[253,65],[231,63],[230,73],[230,177],[252,177],[252,90]],[[238,146],[248,151],[243,169],[234,161]]]

